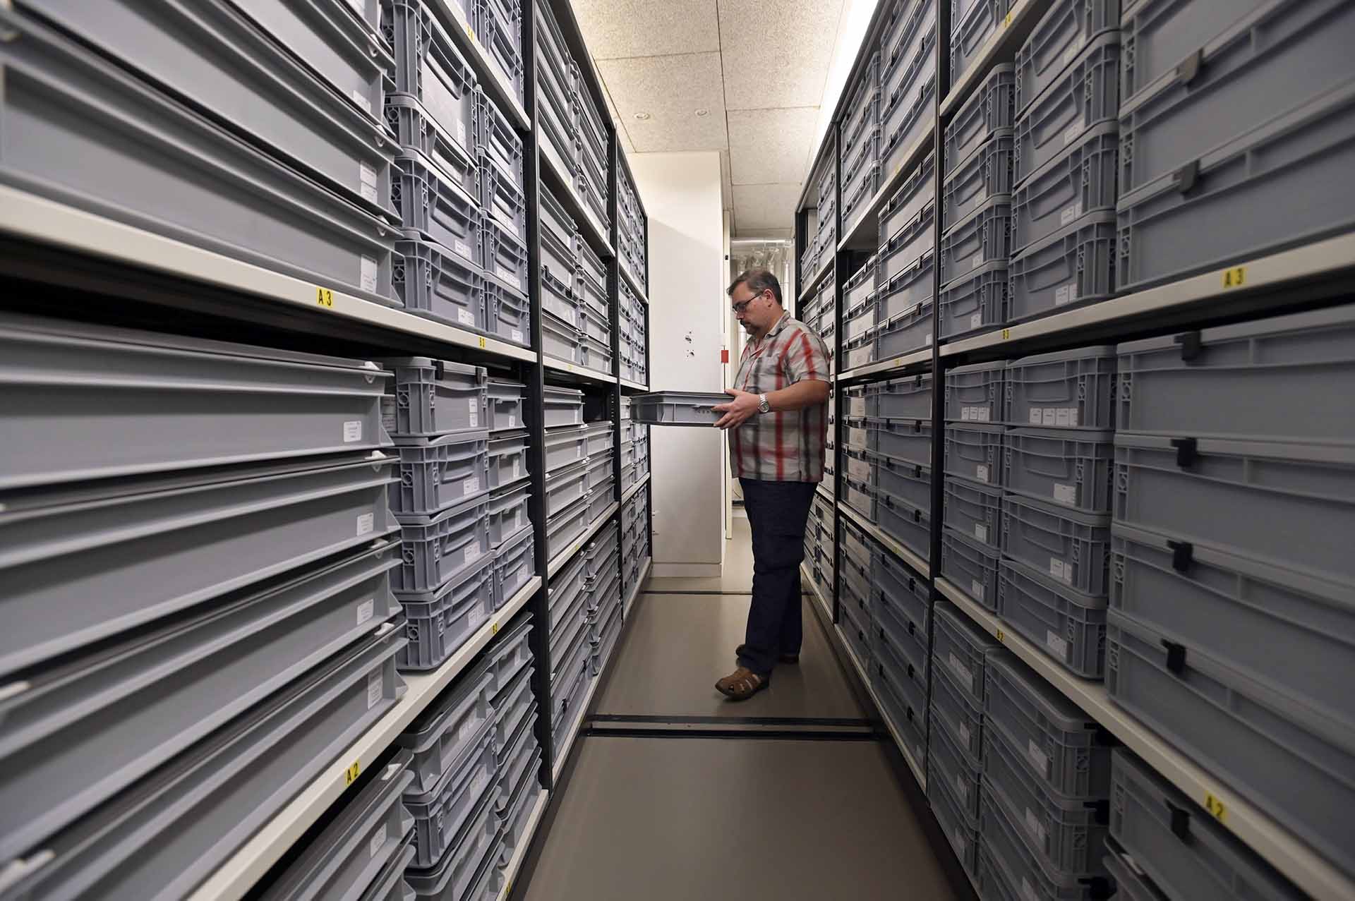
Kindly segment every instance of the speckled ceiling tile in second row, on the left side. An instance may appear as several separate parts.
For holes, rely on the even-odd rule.
[[[598,69],[637,152],[729,146],[718,53],[598,60]],[[709,114],[698,117],[696,110]],[[637,119],[635,112],[649,118]]]

